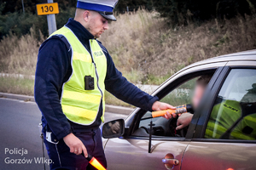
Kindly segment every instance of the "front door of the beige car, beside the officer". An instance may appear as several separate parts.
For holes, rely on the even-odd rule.
[[[156,95],[160,101],[171,105],[189,104],[197,77],[202,74],[214,74],[216,70],[217,68],[211,66],[211,69],[194,68],[193,71],[187,71],[186,74],[182,72],[180,73],[182,76],[174,77],[174,81],[169,82],[165,88],[161,88]],[[221,69],[216,71],[212,78],[216,79],[220,71]],[[125,129],[125,136],[119,139],[108,139],[105,154],[109,170],[177,170],[181,168],[183,153],[189,144],[189,139],[184,137],[186,132],[175,130],[177,121],[175,119],[166,120],[163,117],[148,119],[150,115],[150,112],[137,110],[131,115],[133,120],[130,118],[125,121],[125,126],[132,121],[131,126]],[[150,131],[148,124],[151,121],[154,123],[152,147],[148,151],[148,133]],[[174,159],[177,165],[165,165],[162,162],[164,158]]]

